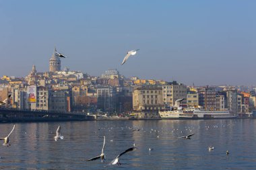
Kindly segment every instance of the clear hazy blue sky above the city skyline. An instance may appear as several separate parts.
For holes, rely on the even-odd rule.
[[[256,1],[0,0],[0,77],[61,69],[185,85],[256,85]],[[140,49],[124,65],[127,51]]]

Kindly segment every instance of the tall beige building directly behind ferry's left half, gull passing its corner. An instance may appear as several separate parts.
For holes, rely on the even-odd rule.
[[[162,99],[166,105],[175,105],[177,99],[182,99],[181,105],[187,104],[187,86],[182,83],[173,81],[166,85],[162,85]]]

